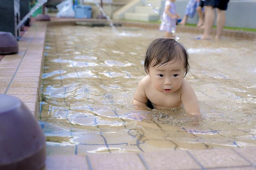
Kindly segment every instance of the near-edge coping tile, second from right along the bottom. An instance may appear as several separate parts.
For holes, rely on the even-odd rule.
[[[204,168],[250,166],[250,163],[231,149],[191,150],[189,153],[191,153]]]

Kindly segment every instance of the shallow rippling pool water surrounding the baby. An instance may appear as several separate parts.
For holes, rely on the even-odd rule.
[[[256,145],[252,41],[201,41],[179,33],[190,55],[186,79],[202,117],[186,115],[183,108],[134,109],[146,49],[161,36],[131,27],[116,33],[108,27],[48,27],[39,115],[48,155]]]

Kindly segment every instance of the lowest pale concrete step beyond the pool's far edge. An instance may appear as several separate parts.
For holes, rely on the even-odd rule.
[[[125,13],[124,19],[137,21],[157,21],[159,19],[159,15],[147,13]]]

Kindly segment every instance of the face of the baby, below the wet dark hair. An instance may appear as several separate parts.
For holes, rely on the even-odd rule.
[[[179,60],[171,60],[154,68],[150,66],[148,71],[153,87],[165,95],[178,90],[184,77],[184,65]]]

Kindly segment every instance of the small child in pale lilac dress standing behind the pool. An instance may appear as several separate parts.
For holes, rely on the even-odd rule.
[[[160,25],[160,30],[165,31],[165,37],[170,38],[173,38],[173,33],[176,32],[176,19],[180,18],[176,13],[174,2],[175,0],[166,0]]]

